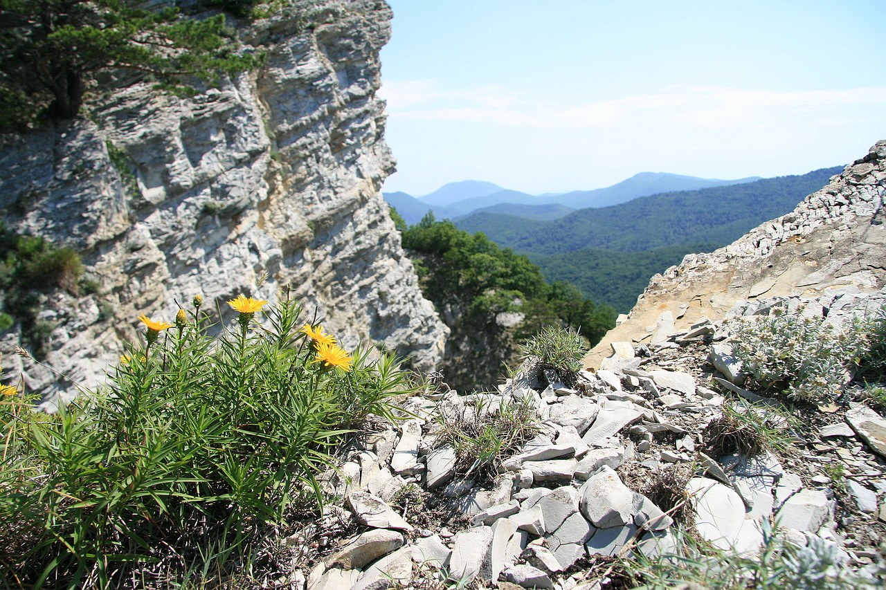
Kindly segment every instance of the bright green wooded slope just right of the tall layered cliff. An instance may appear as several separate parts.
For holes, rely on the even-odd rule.
[[[456,389],[494,383],[517,365],[517,345],[545,326],[571,326],[590,345],[615,326],[612,307],[570,283],[548,283],[525,255],[432,213],[408,228],[393,209],[392,217],[425,297],[452,330],[442,370]]]

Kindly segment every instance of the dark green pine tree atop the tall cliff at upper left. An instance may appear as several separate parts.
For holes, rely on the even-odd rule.
[[[128,70],[167,86],[217,83],[254,63],[237,55],[221,14],[204,19],[134,0],[0,0],[0,127],[36,113],[69,119],[101,71]]]

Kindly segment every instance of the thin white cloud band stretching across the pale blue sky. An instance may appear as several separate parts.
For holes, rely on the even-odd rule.
[[[668,121],[706,128],[783,126],[886,113],[886,88],[782,91],[668,87],[610,100],[576,102],[568,97],[531,97],[497,86],[443,89],[439,83],[424,80],[386,82],[382,96],[388,99],[392,117],[399,119],[537,128],[660,126]]]

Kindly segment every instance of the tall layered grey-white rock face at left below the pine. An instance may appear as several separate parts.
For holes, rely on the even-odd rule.
[[[379,192],[394,169],[376,96],[391,10],[305,4],[238,25],[266,61],[220,89],[185,99],[136,82],[96,97],[86,116],[0,137],[7,226],[74,248],[99,284],[43,302],[56,369],[97,384],[135,337],[136,314],[170,320],[176,300],[202,293],[229,320],[226,299],[273,302],[285,285],[346,347],[383,344],[420,369],[439,361],[448,330]],[[6,369],[24,369],[32,389],[55,383],[37,365]]]

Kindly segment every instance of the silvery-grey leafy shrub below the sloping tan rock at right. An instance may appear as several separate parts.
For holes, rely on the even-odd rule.
[[[753,384],[805,402],[837,397],[847,371],[869,358],[872,341],[875,350],[882,350],[884,342],[868,319],[840,330],[802,310],[739,320],[734,329],[733,353]]]

